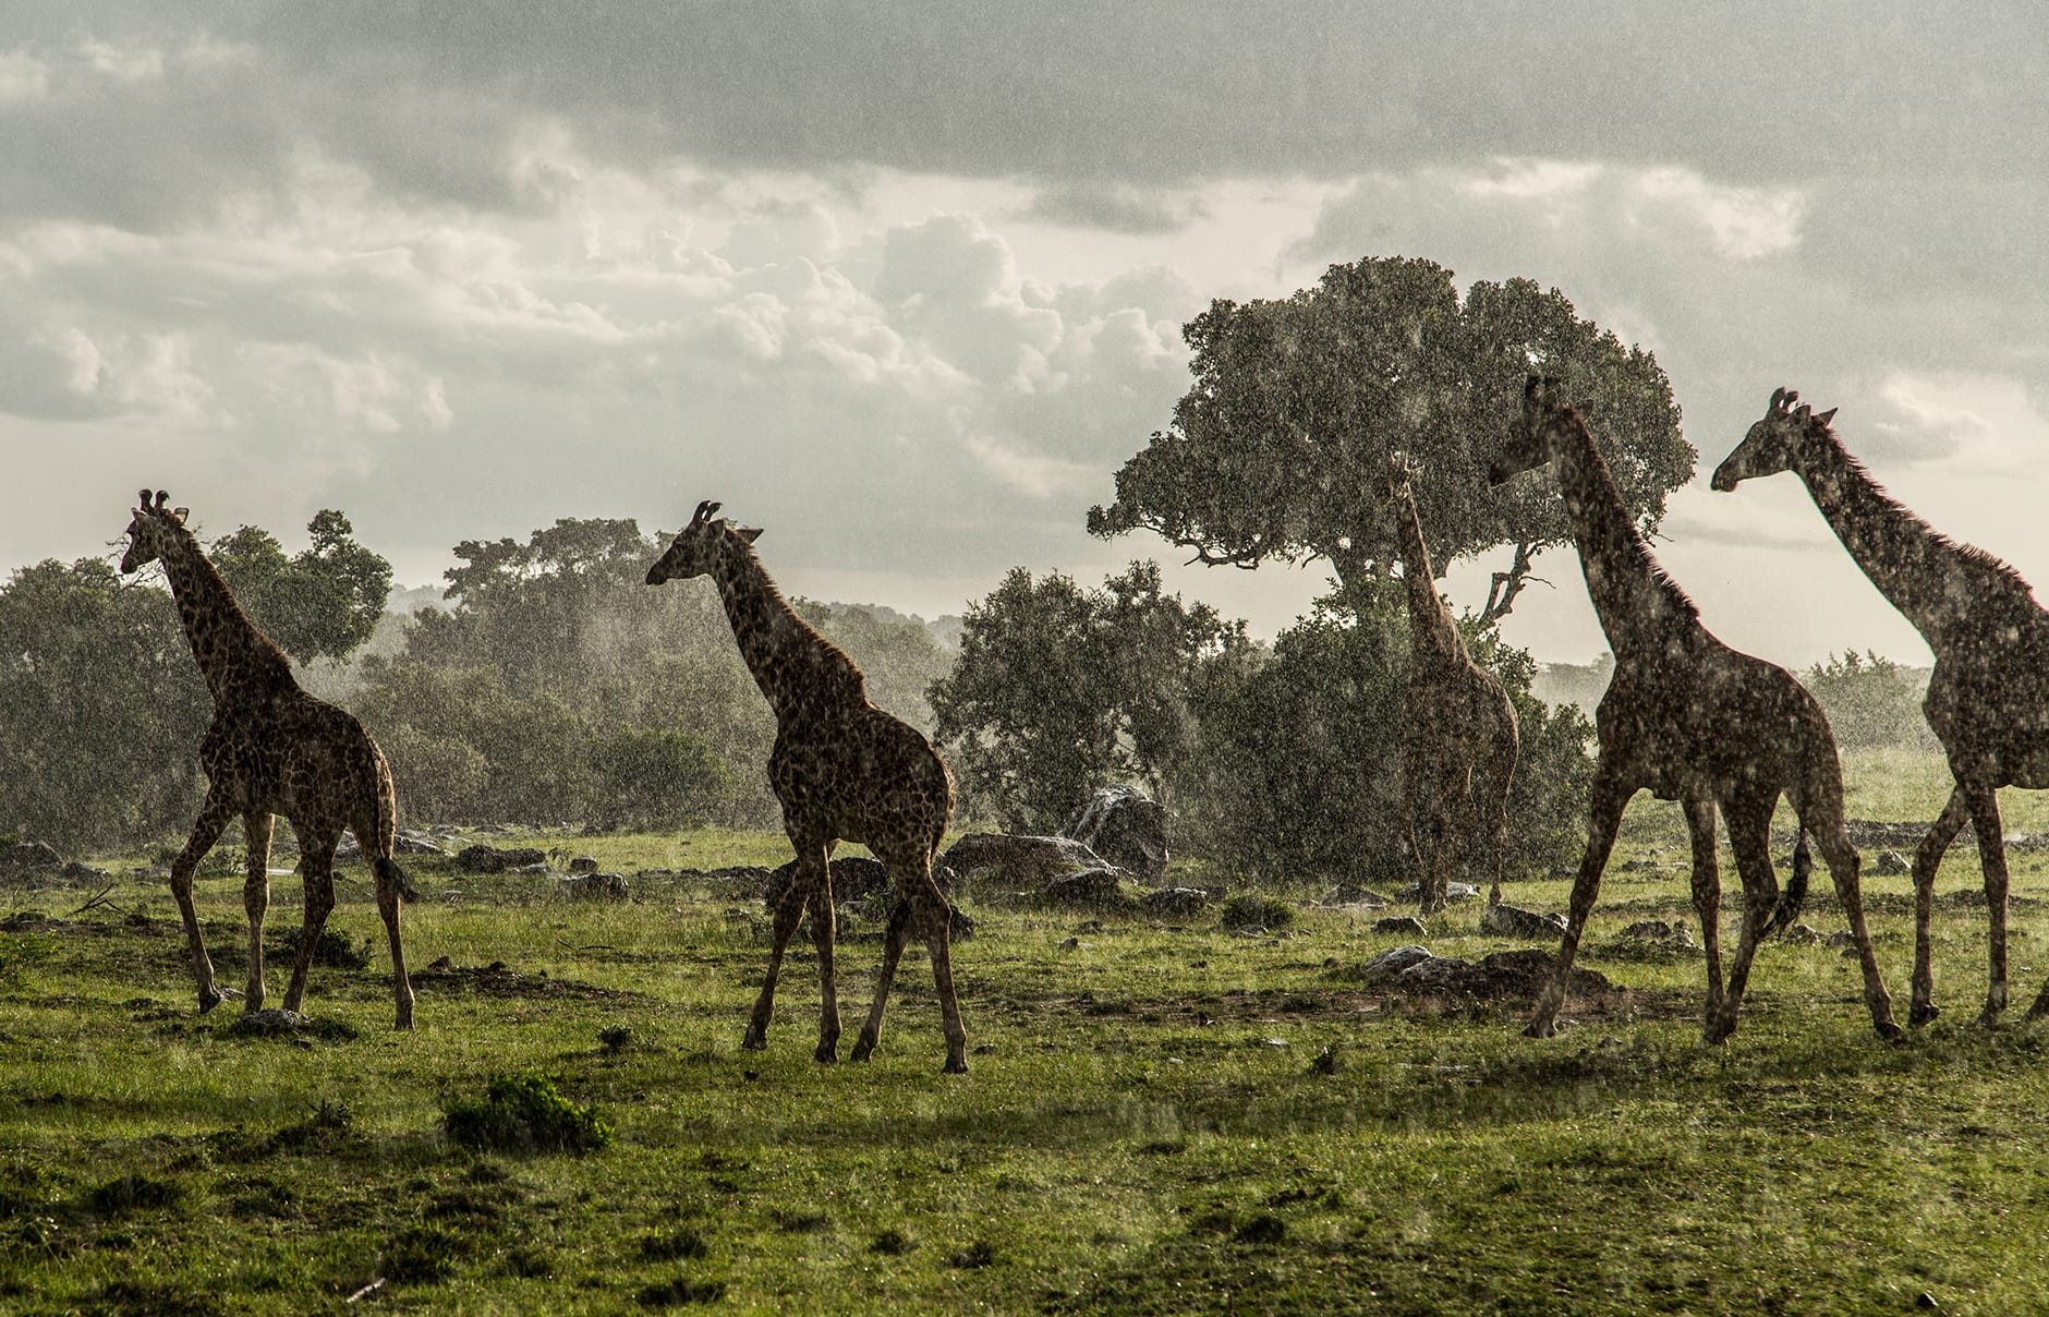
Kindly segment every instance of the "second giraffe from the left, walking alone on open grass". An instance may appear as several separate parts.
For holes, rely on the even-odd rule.
[[[953,774],[924,735],[869,703],[867,680],[838,645],[809,627],[783,600],[754,555],[760,530],[734,526],[713,514],[719,504],[697,504],[691,524],[647,567],[647,584],[709,576],[734,625],[740,657],[754,684],[775,707],[777,737],[768,756],[768,784],[783,805],[783,830],[797,850],[797,873],[775,907],[775,944],[754,1016],[742,1047],[768,1047],[768,1016],[783,969],[783,948],[805,903],[811,905],[811,942],[818,946],[820,1022],[816,1059],[838,1059],[840,1008],[832,971],[834,914],[832,848],[861,842],[889,868],[897,891],[895,911],[883,934],[883,965],[875,1004],[854,1043],[852,1059],[867,1061],[883,1028],[883,1006],[895,979],[904,944],[916,932],[932,957],[940,1022],[947,1036],[945,1073],[967,1071],[967,1030],[953,995],[947,954],[949,911],[932,881],[932,856],[953,817]]]

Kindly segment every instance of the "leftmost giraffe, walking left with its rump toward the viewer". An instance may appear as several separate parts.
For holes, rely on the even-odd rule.
[[[184,528],[186,510],[166,508],[141,492],[141,506],[127,528],[121,571],[160,561],[170,580],[184,637],[213,694],[213,723],[199,741],[199,766],[207,774],[207,799],[199,807],[193,836],[170,862],[170,893],[184,918],[199,981],[199,1010],[213,1010],[225,995],[213,985],[213,961],[193,909],[193,870],[213,850],[227,821],[242,817],[248,842],[248,877],[242,905],[250,922],[250,973],[242,1010],[262,1010],[262,918],[270,903],[273,815],[291,821],[299,838],[299,881],[305,887],[305,922],[299,957],[285,987],[285,1010],[299,1010],[305,975],[313,965],[320,930],[334,909],[334,846],[346,827],[369,856],[377,883],[377,914],[391,940],[391,991],[398,1006],[395,1028],[412,1028],[412,981],[400,946],[400,899],[412,897],[406,870],[391,858],[398,834],[398,797],[391,770],[371,733],[352,715],[299,688],[291,662],[242,612],[227,582]]]

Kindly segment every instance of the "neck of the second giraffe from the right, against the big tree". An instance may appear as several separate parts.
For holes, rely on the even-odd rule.
[[[1551,459],[1580,549],[1586,594],[1615,657],[1666,651],[1674,625],[1701,631],[1692,600],[1651,557],[1586,424],[1574,412],[1555,416],[1551,424]]]

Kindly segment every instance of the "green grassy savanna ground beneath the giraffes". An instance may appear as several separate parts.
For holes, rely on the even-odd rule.
[[[1852,756],[1850,813],[1924,823],[1940,772]],[[2008,832],[2049,830],[2049,799],[2002,803]],[[762,834],[512,840],[627,875],[787,856]],[[201,885],[223,983],[242,979],[234,858]],[[1904,1020],[1910,891],[1873,858]],[[1690,922],[1684,827],[1647,797],[1582,950],[1627,991],[1570,1002],[1578,1024],[1547,1043],[1518,1032],[1527,1000],[1363,985],[1350,971],[1402,942],[1371,914],[1301,909],[1285,936],[1242,938],[1213,911],[1162,926],[969,893],[965,1077],[938,1073],[922,954],[873,1063],[811,1061],[807,944],[768,1051],[744,1053],[758,901],[641,877],[631,903],[578,903],[432,858],[410,864],[426,897],[406,911],[412,1034],[389,1030],[354,866],[330,928],[375,936],[369,967],[316,969],[309,1028],[246,1036],[234,1004],[195,1014],[166,885],[139,856],[100,862],[129,875],[113,907],[80,911],[92,893],[76,887],[4,893],[8,1313],[2016,1313],[2049,1294],[2049,1026],[2020,1018],[2049,977],[2033,850],[2012,852],[2016,1006],[1975,1024],[1985,918],[1959,895],[1979,891],[1977,856],[1953,852],[1947,1014],[1904,1045],[1873,1036],[1854,961],[1768,944],[1742,1030],[1703,1047],[1699,957],[1617,936]],[[1830,932],[1822,877],[1807,922]],[[1510,899],[1559,909],[1565,887]],[[297,924],[297,881],[273,891],[275,940]],[[1508,946],[1477,916],[1455,907],[1428,946]],[[875,932],[842,920],[842,1051]],[[527,1071],[594,1104],[615,1143],[477,1153],[449,1137],[445,1102]]]

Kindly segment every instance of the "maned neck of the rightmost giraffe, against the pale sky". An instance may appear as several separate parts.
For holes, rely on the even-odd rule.
[[[1826,428],[1797,444],[1793,469],[1842,547],[1930,647],[1965,621],[1977,590],[1959,586],[1996,563],[1893,502]]]

